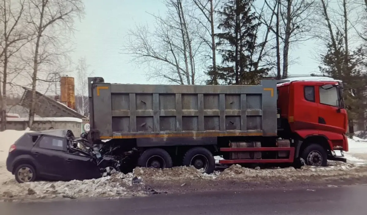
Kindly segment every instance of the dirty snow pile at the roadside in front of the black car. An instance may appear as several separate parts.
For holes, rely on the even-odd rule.
[[[144,196],[141,180],[139,186],[133,186],[132,173],[117,173],[104,178],[90,180],[72,180],[69,182],[28,182],[13,184],[12,189],[3,192],[3,198],[50,199],[50,198],[84,198],[84,197],[126,197]],[[12,183],[12,182],[10,182]],[[6,185],[6,184],[4,184]],[[14,189],[16,187],[16,189]],[[133,190],[133,191],[132,191]]]

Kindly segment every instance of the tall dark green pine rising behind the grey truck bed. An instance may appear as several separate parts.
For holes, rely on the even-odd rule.
[[[252,57],[258,49],[256,29],[258,17],[251,12],[254,0],[229,0],[218,11],[222,33],[216,35],[222,65],[217,66],[219,83],[231,85],[257,84],[268,70],[258,68]],[[214,71],[208,75],[212,77]],[[212,78],[211,78],[212,79]],[[211,83],[209,80],[207,83]]]

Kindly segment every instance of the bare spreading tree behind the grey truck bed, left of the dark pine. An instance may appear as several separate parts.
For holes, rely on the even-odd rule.
[[[180,85],[195,84],[206,65],[203,40],[197,36],[199,25],[190,18],[188,14],[192,11],[182,0],[166,0],[165,3],[165,18],[151,14],[155,30],[149,31],[147,26],[130,29],[122,53],[132,55],[139,65],[146,65],[149,79],[160,83],[166,80]]]

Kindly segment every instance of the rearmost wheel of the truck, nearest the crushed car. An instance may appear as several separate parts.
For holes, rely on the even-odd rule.
[[[170,154],[161,148],[149,148],[140,155],[138,166],[153,168],[172,168],[173,162]]]

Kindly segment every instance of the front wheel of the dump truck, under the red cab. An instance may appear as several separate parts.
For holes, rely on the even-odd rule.
[[[327,153],[320,144],[310,144],[303,151],[301,157],[309,166],[327,166]]]

